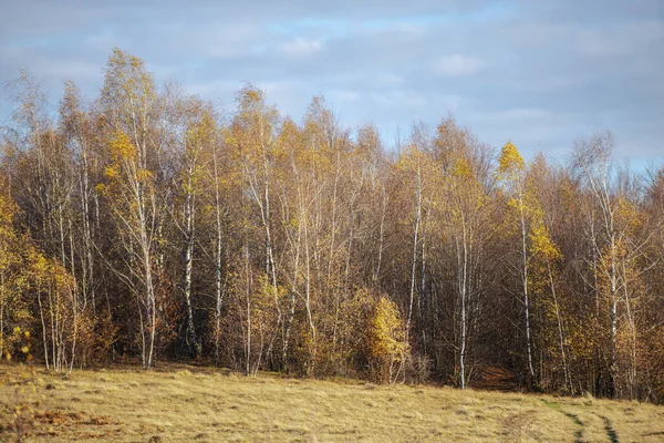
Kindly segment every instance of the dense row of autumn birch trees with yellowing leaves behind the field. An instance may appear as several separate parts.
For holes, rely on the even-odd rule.
[[[0,157],[0,349],[65,371],[195,360],[664,401],[664,169],[526,162],[453,117],[386,148],[159,86],[114,50],[58,112],[23,73]]]

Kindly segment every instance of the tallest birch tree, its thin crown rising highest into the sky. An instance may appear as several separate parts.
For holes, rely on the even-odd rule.
[[[114,271],[136,297],[142,361],[151,368],[157,330],[155,239],[162,216],[151,164],[156,92],[144,62],[117,49],[108,59],[105,73],[102,101],[111,162],[104,172],[105,183],[97,189],[116,222],[125,267]]]

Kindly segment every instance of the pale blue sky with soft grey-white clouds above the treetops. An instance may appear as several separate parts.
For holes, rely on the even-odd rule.
[[[94,96],[114,47],[227,110],[246,82],[295,119],[323,94],[387,144],[453,113],[527,155],[609,128],[619,157],[664,159],[662,0],[0,0],[2,84],[25,68],[53,103],[64,79]]]

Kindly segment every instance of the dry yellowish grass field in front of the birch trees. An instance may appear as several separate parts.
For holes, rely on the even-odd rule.
[[[25,441],[664,441],[664,406],[625,401],[247,378],[184,365],[38,370],[38,387],[17,365],[0,365],[0,441],[15,441],[8,411],[19,402],[34,406],[24,412],[34,418],[23,426]]]

